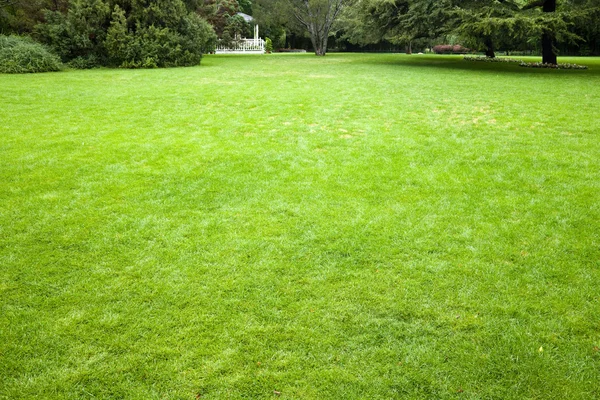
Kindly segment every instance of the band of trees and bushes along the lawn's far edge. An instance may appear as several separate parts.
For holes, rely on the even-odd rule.
[[[250,34],[253,15],[275,48],[337,50],[460,43],[600,54],[600,0],[0,0],[0,31],[32,35],[74,66],[196,65],[217,40]]]

